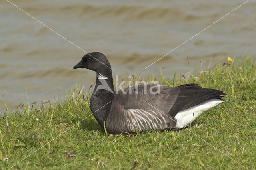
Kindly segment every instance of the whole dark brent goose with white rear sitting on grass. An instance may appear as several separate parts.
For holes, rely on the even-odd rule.
[[[183,128],[222,103],[226,95],[196,84],[141,84],[115,91],[110,63],[99,52],[84,55],[76,68],[96,72],[90,109],[100,126],[112,134]]]

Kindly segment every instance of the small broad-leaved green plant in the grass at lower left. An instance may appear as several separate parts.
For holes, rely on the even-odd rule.
[[[30,148],[38,140],[38,136],[35,135],[35,133],[36,130],[34,130],[34,132],[32,132],[29,136],[19,133],[23,138],[17,138],[19,143],[16,143],[15,147]]]

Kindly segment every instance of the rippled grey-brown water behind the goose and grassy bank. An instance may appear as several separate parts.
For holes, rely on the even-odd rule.
[[[113,74],[140,73],[240,4],[242,0],[89,1],[13,0],[38,20],[87,52],[104,53]],[[256,2],[251,0],[148,67],[143,75],[172,77],[200,61],[256,53]],[[94,83],[96,74],[73,70],[85,54],[9,2],[0,2],[0,112],[28,99],[58,100],[66,90]],[[59,89],[59,90],[58,90]]]

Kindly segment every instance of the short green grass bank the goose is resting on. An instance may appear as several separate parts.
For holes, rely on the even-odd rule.
[[[0,168],[255,169],[256,63],[241,59],[190,76],[148,77],[228,94],[226,102],[180,131],[110,135],[91,115],[90,94],[79,87],[61,103],[28,103],[12,112],[6,106],[0,117]],[[133,82],[138,79],[132,76]]]

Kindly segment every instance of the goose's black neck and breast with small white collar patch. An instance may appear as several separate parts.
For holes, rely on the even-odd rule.
[[[112,73],[110,72],[107,75],[97,73],[96,85],[90,99],[90,108],[102,128],[104,128],[104,121],[106,121],[110,112],[114,95]]]

